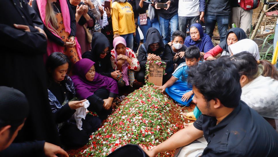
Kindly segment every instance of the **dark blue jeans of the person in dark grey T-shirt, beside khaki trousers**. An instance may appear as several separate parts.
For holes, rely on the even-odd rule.
[[[209,15],[205,14],[205,32],[212,37],[212,33],[217,22],[220,42],[226,40],[230,15]]]

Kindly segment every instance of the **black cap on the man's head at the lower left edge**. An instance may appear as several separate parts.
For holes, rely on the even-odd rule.
[[[6,125],[19,126],[28,116],[26,96],[17,89],[0,86],[0,128]]]

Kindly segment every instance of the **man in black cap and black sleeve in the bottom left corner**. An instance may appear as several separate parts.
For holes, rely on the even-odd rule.
[[[12,143],[29,113],[26,96],[17,89],[0,86],[0,157],[67,156],[59,146],[45,142]],[[12,144],[11,144],[12,143]]]

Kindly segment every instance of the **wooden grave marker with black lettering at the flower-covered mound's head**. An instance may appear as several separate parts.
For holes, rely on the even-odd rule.
[[[157,86],[162,86],[163,67],[155,63],[150,63],[149,71],[150,73],[148,76],[148,82],[151,82]]]

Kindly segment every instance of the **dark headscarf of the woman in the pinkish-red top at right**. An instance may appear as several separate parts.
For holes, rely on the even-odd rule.
[[[228,35],[230,33],[234,33],[236,34],[236,37],[238,38],[238,41],[242,40],[242,39],[246,39],[246,34],[245,32],[243,31],[243,29],[241,28],[231,28],[227,34],[226,34],[226,40],[225,41],[222,41],[221,43],[219,43],[218,45],[224,50],[224,51],[229,51],[228,50],[228,43],[227,43],[227,39],[228,39]]]

